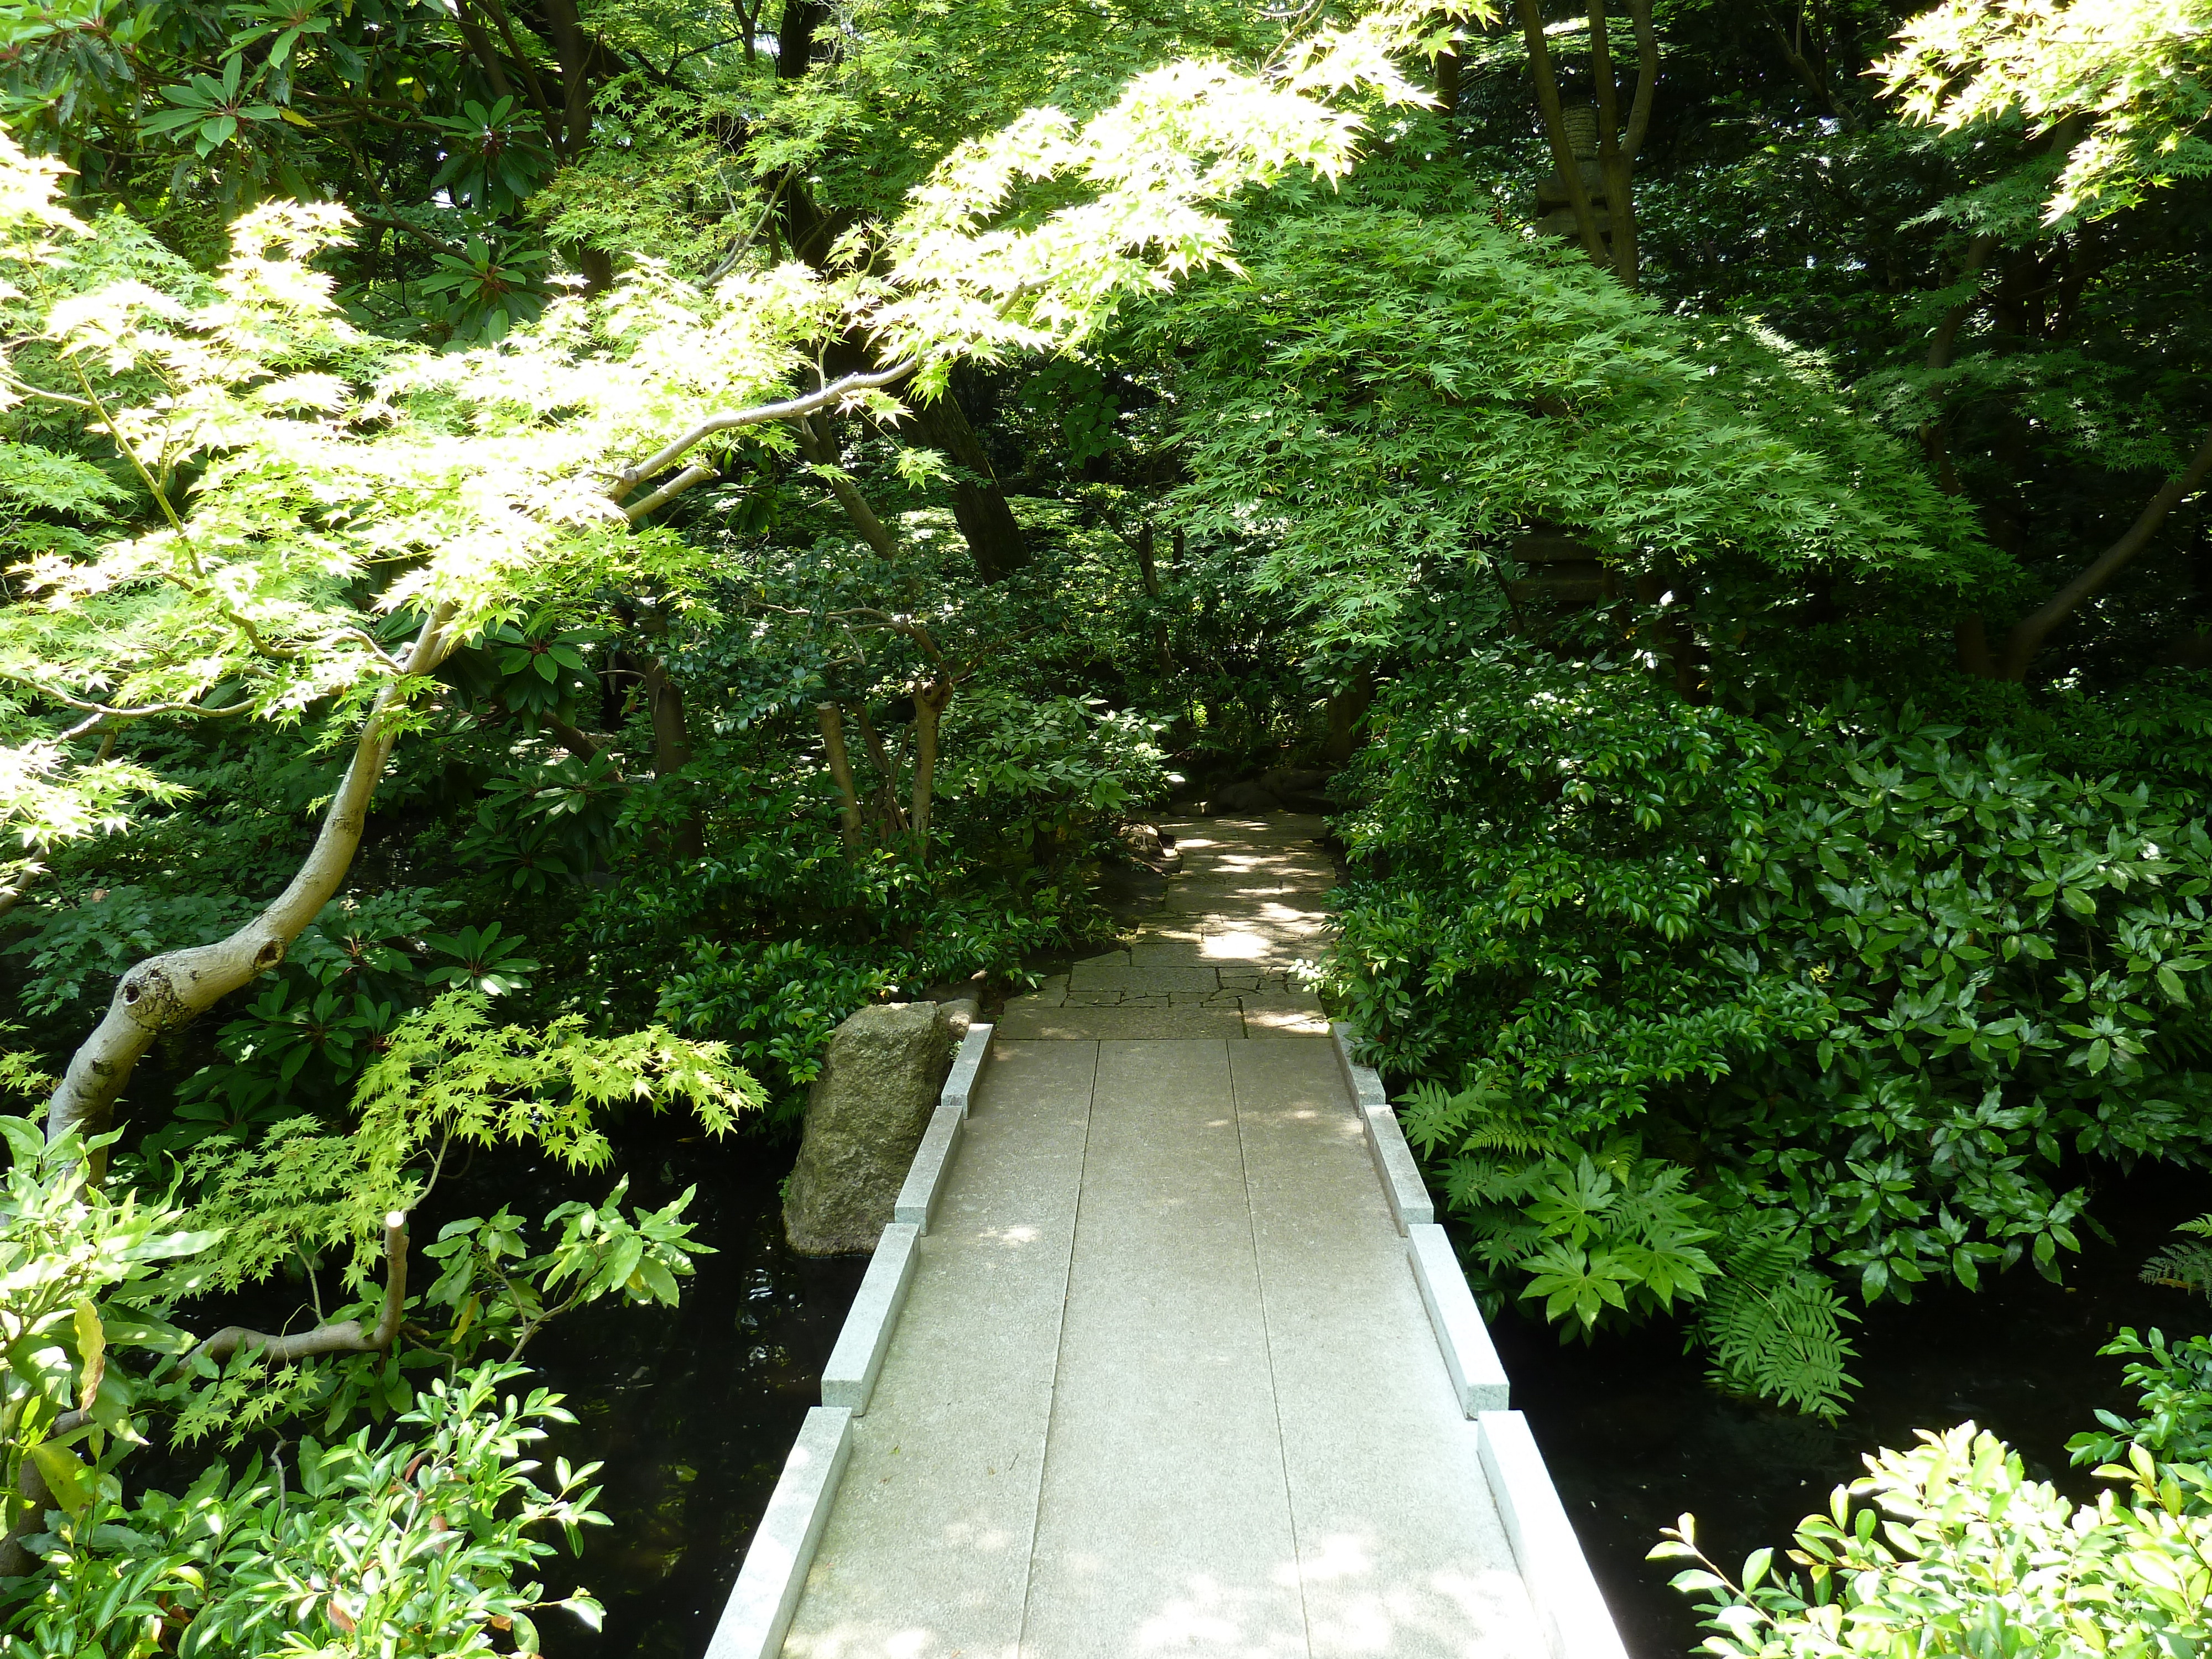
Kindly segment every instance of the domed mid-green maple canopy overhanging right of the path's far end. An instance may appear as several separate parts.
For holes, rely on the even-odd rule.
[[[1475,215],[1321,206],[1245,232],[1248,281],[1150,314],[1186,363],[1192,533],[1265,551],[1323,637],[1402,637],[1429,571],[1489,586],[1531,524],[1639,575],[1825,571],[1927,588],[1997,560],[1825,369],[1661,314]]]

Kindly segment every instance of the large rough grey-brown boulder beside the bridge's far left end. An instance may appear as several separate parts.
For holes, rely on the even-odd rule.
[[[783,1188],[783,1237],[801,1256],[876,1250],[956,1046],[936,1002],[860,1009],[830,1033],[807,1091],[807,1133]]]

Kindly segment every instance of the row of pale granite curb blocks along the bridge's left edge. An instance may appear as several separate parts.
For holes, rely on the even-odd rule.
[[[929,1230],[945,1175],[960,1148],[969,1097],[989,1055],[991,1026],[969,1026],[938,1095],[936,1115],[898,1190],[894,1221],[883,1230],[838,1329],[836,1347],[830,1349],[830,1363],[823,1367],[823,1402],[807,1411],[792,1442],[752,1544],[745,1546],[745,1562],[737,1571],[737,1584],[730,1586],[706,1659],[774,1659],[783,1652],[783,1635],[799,1610],[807,1568],[814,1566],[814,1551],[852,1455],[852,1420],[867,1411],[869,1394],[876,1389],[876,1374],[883,1369],[891,1332],[914,1285],[914,1245]]]

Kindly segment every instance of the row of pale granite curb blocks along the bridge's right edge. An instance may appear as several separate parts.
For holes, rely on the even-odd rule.
[[[1376,1179],[1389,1199],[1398,1232],[1407,1239],[1407,1259],[1420,1283],[1420,1301],[1429,1310],[1436,1345],[1460,1396],[1460,1407],[1475,1420],[1482,1471],[1498,1500],[1498,1517],[1513,1544],[1513,1564],[1528,1586],[1528,1601],[1544,1626],[1553,1659],[1626,1659],[1621,1632],[1606,1610],[1590,1562],[1566,1517],[1559,1489],[1553,1486],[1544,1453],[1528,1431],[1528,1418],[1509,1411],[1509,1385],[1498,1349],[1491,1345],[1482,1310],[1460,1267],[1451,1239],[1436,1225],[1436,1203],[1405,1144],[1398,1113],[1383,1091],[1374,1066],[1352,1057],[1352,1026],[1334,1022],[1336,1066],[1367,1128],[1367,1150],[1374,1155]]]

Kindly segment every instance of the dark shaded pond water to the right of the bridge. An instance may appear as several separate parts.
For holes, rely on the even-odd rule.
[[[1524,1318],[1495,1321],[1513,1402],[1544,1449],[1628,1652],[1674,1659],[1703,1639],[1688,1597],[1668,1588],[1677,1566],[1644,1559],[1661,1526],[1694,1513],[1699,1544],[1734,1573],[1761,1544],[1787,1544],[1801,1517],[1863,1473],[1863,1453],[1909,1447],[1913,1429],[1973,1420],[2008,1440],[2031,1475],[2090,1498],[2099,1482],[2066,1462],[2066,1440],[2097,1427],[2097,1407],[2135,1405],[2126,1360],[2097,1349],[2121,1325],[2168,1334],[2212,1325],[2203,1298],[2137,1279],[2172,1225],[2208,1208],[2203,1177],[2139,1170],[2099,1194],[2095,1210],[2115,1239],[2084,1239],[2064,1287],[2017,1267],[1980,1294],[1922,1292],[1911,1307],[1867,1310],[1851,1367],[1863,1387],[1834,1427],[1714,1394],[1701,1360],[1666,1332],[1559,1347]]]

